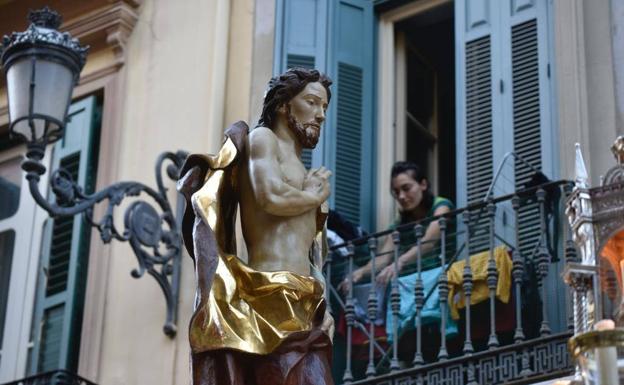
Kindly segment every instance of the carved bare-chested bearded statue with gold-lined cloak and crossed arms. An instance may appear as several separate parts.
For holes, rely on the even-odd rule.
[[[178,182],[197,296],[193,384],[332,384],[320,273],[331,172],[306,170],[331,94],[316,70],[271,79],[259,124],[237,122],[216,155],[191,155]],[[236,254],[241,210],[248,263]]]

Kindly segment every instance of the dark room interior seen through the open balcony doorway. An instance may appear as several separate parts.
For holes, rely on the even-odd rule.
[[[455,45],[453,4],[420,13],[396,25],[405,34],[407,160],[437,181],[434,194],[455,199]],[[437,151],[437,153],[436,153]]]

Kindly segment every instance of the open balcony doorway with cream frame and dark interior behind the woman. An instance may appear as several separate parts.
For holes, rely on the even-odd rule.
[[[394,219],[392,164],[426,170],[431,190],[456,199],[455,13],[451,0],[379,3],[377,228]]]

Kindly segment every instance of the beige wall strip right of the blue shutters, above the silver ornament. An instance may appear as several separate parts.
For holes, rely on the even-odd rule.
[[[618,134],[610,12],[609,0],[554,1],[561,177],[574,178],[579,142],[593,185],[614,165]]]

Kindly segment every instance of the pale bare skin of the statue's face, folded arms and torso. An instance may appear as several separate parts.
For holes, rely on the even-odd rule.
[[[301,121],[316,122],[320,132],[327,107],[320,83],[309,83],[290,106]],[[249,266],[310,275],[308,252],[316,235],[316,210],[329,196],[331,172],[324,167],[305,169],[301,144],[283,115],[278,115],[273,129],[253,129],[246,150],[239,183]]]

